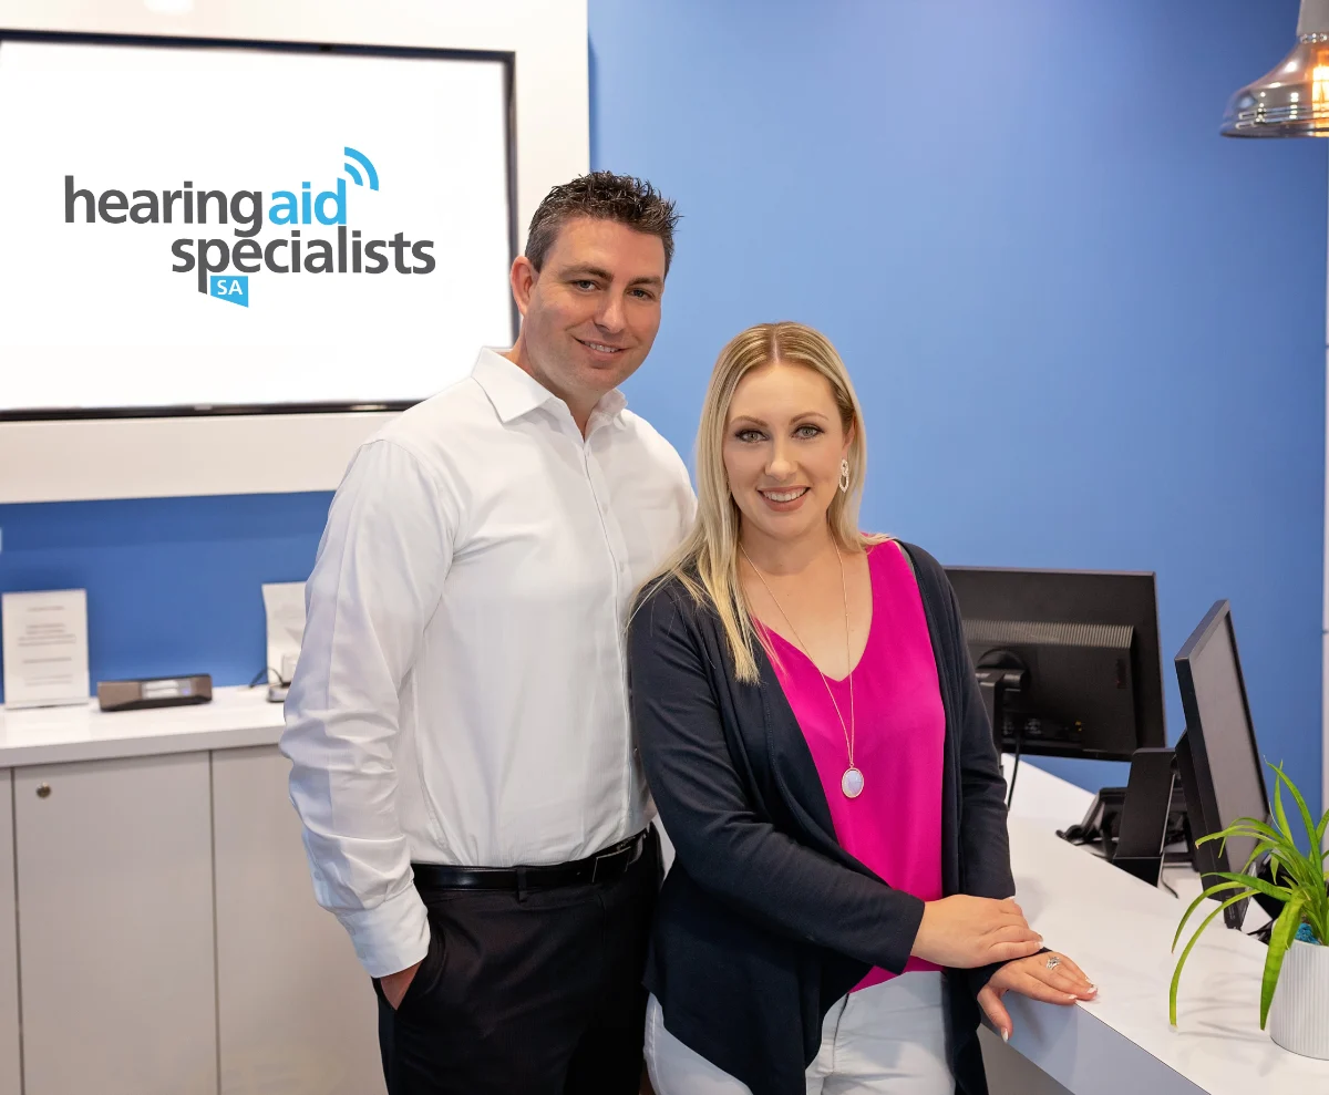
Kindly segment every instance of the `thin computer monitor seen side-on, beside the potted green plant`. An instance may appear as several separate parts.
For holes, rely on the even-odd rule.
[[[1220,832],[1239,817],[1269,820],[1264,764],[1255,740],[1236,631],[1227,601],[1219,601],[1176,655],[1185,732],[1176,744],[1176,765],[1185,793],[1191,836]],[[1195,866],[1208,889],[1220,870],[1240,870],[1255,850],[1251,837],[1208,841],[1195,849]],[[1245,901],[1224,910],[1229,928],[1240,928]]]

